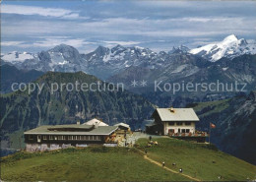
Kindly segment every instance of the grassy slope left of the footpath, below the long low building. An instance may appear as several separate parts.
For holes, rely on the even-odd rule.
[[[18,152],[1,162],[4,181],[185,181],[125,148]]]

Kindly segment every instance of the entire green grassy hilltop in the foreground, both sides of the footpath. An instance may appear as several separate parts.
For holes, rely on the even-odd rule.
[[[170,138],[154,138],[160,146],[147,148],[149,158],[203,181],[255,179],[256,167],[204,144]],[[139,139],[145,151],[148,139]],[[55,152],[17,152],[2,158],[1,180],[5,181],[191,181],[144,158],[136,149],[67,149]],[[214,161],[214,162],[213,162]],[[175,162],[176,166],[172,166]]]

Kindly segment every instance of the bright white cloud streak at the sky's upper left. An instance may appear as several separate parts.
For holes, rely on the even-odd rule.
[[[78,18],[78,12],[74,12],[61,8],[43,8],[37,6],[23,6],[23,5],[6,5],[3,4],[1,8],[2,14],[18,14],[18,15],[38,15],[43,17],[56,18]]]

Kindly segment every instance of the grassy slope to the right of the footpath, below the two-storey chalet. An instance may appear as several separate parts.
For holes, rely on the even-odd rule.
[[[165,166],[178,171],[183,169],[184,174],[199,178],[203,181],[245,181],[247,178],[255,179],[256,167],[241,159],[217,151],[214,146],[192,144],[185,141],[156,138],[160,146],[144,148],[147,139],[139,139],[140,149],[147,150],[148,156],[159,162],[164,161]],[[210,149],[211,148],[211,149]],[[176,166],[172,166],[172,163]]]

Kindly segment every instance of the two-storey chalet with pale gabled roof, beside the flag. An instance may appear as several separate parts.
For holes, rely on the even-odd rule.
[[[194,134],[199,122],[192,108],[157,108],[152,117],[155,122],[146,126],[146,132],[158,135]]]

